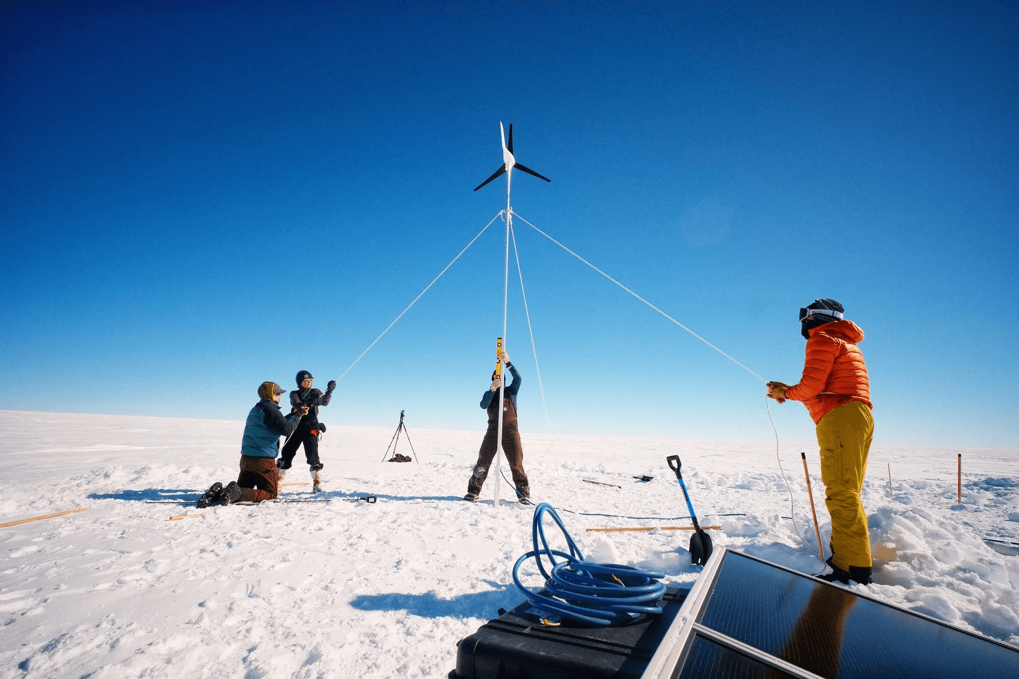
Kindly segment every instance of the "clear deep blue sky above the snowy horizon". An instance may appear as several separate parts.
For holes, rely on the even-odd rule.
[[[504,207],[769,379],[866,333],[878,443],[1019,448],[1010,3],[15,2],[0,408],[242,419],[338,376]],[[128,6],[125,6],[128,5]],[[481,429],[497,221],[325,422]],[[768,438],[753,376],[517,221],[525,431]],[[780,434],[810,440],[798,404]]]

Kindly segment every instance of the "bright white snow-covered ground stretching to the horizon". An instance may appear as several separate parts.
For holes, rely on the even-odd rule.
[[[88,508],[0,528],[0,679],[444,677],[457,640],[522,599],[511,572],[530,550],[533,508],[508,502],[505,484],[495,508],[494,478],[485,502],[461,500],[480,428],[409,426],[420,464],[381,462],[395,422],[331,427],[318,497],[329,502],[195,510],[145,501],[195,500],[235,478],[242,422],[0,411],[0,523]],[[561,511],[685,516],[664,462],[675,454],[703,523],[721,525],[716,546],[820,569],[799,455],[807,452],[826,541],[811,443],[782,446],[795,523],[782,518],[790,495],[773,442],[525,430],[524,446],[535,500],[560,509],[588,557],[696,579],[689,533],[585,532],[688,522]],[[399,452],[410,453],[406,443]],[[866,589],[1019,644],[1019,557],[981,540],[1019,542],[1017,453],[875,443],[864,488],[875,584]],[[306,469],[287,481],[307,481]],[[644,473],[655,478],[634,479]],[[368,494],[378,503],[343,502]],[[169,520],[185,513],[201,518]],[[710,516],[730,513],[747,516]]]

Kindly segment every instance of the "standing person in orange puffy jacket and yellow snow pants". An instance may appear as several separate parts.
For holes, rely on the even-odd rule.
[[[869,584],[872,570],[867,514],[860,491],[874,435],[870,379],[857,345],[863,330],[843,318],[835,300],[814,300],[800,309],[807,355],[800,382],[768,382],[779,403],[800,401],[817,425],[824,504],[832,516],[832,556],[817,577],[828,582]]]

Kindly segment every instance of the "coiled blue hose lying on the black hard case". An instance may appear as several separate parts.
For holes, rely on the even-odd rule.
[[[570,554],[548,546],[541,523],[544,514],[551,516],[562,531]],[[538,545],[539,537],[541,546]],[[665,593],[665,585],[658,581],[665,577],[664,573],[642,571],[620,564],[585,561],[580,547],[562,525],[559,515],[548,503],[541,503],[534,508],[531,538],[534,550],[514,564],[513,581],[535,608],[603,627],[622,625],[642,613],[661,613],[655,603]],[[551,562],[551,572],[545,570],[542,556]],[[565,561],[556,562],[555,557]],[[520,567],[531,558],[537,562],[550,596],[533,592],[520,581]]]

